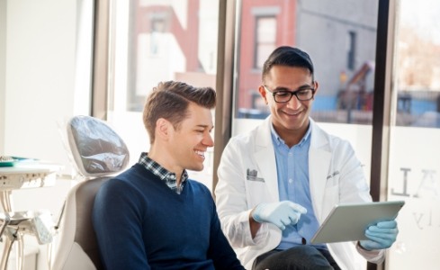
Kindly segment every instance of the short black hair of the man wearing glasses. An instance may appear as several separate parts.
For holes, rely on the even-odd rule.
[[[263,65],[262,79],[265,80],[265,76],[269,74],[269,71],[274,66],[287,66],[287,67],[305,67],[310,70],[311,77],[314,79],[313,63],[307,52],[298,48],[290,46],[281,46],[271,53],[269,58],[265,60]]]

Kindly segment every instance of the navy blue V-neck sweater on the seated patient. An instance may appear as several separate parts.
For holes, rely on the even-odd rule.
[[[136,164],[100,188],[93,222],[105,269],[244,269],[193,180],[178,194]]]

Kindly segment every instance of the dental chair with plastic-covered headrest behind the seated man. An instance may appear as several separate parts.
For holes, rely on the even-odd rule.
[[[104,121],[90,116],[67,122],[67,142],[82,179],[67,193],[49,250],[49,268],[103,269],[92,225],[94,196],[101,184],[127,166],[129,150]]]

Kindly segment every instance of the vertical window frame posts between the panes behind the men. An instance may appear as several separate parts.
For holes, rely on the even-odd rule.
[[[240,0],[220,1],[219,42],[217,58],[216,88],[218,102],[216,107],[213,158],[212,190],[218,182],[217,167],[222,149],[231,136],[233,112],[233,85],[235,83],[234,61],[236,30]],[[92,116],[106,119],[109,72],[109,17],[111,0],[95,1],[94,25],[94,74],[92,89]],[[391,124],[391,67],[393,60],[394,24],[396,20],[396,0],[379,1],[376,40],[376,71],[374,77],[373,101],[373,146],[371,168],[371,193],[373,201],[382,201],[386,196],[386,177],[388,175],[388,148],[390,145]],[[368,270],[383,269],[382,265],[368,264]]]

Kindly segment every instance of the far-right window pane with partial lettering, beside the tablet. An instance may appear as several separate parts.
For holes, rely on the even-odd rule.
[[[388,269],[434,269],[440,247],[438,1],[400,1],[392,72],[389,200],[404,200]]]

